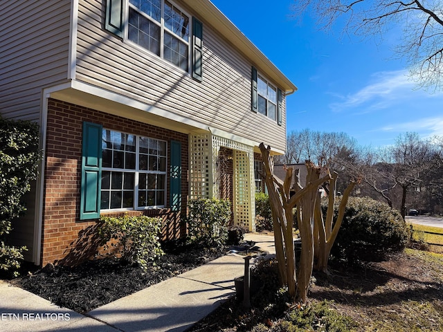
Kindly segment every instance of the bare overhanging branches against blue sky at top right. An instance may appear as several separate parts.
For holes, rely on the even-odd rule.
[[[396,53],[407,61],[417,84],[430,89],[443,86],[443,9],[440,0],[297,0],[292,6],[297,17],[314,12],[318,25],[329,29],[344,19],[343,32],[383,39],[399,26]]]

